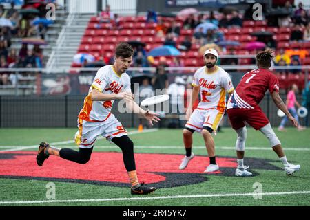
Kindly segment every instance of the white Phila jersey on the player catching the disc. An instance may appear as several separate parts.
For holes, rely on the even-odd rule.
[[[101,67],[96,76],[88,95],[84,100],[83,109],[79,113],[79,119],[88,122],[104,122],[109,118],[114,100],[92,101],[92,89],[98,89],[103,94],[118,94],[130,91],[130,76],[123,73],[118,75],[112,65]]]

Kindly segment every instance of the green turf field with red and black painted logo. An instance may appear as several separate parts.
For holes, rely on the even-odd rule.
[[[152,182],[154,194],[130,195],[121,150],[106,140],[96,142],[88,164],[50,157],[39,168],[39,142],[78,149],[76,129],[0,129],[0,206],[309,206],[309,129],[276,131],[289,162],[301,165],[293,176],[285,175],[262,133],[248,129],[245,164],[255,173],[248,178],[234,177],[236,133],[229,128],[214,137],[221,173],[211,175],[203,173],[209,158],[199,134],[192,148],[196,157],[178,170],[185,153],[181,129],[129,131],[138,179]],[[55,199],[46,198],[51,181]]]

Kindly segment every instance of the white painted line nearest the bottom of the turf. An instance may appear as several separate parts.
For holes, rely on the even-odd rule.
[[[110,198],[110,199],[71,199],[71,200],[41,200],[41,201],[0,201],[4,204],[30,204],[30,203],[67,203],[67,202],[96,202],[96,201],[131,201],[131,200],[154,200],[154,199],[188,199],[203,197],[247,197],[258,195],[296,195],[310,194],[310,191],[295,192],[263,192],[263,193],[229,193],[229,194],[201,194],[201,195],[174,195],[166,197],[127,197],[127,198]]]

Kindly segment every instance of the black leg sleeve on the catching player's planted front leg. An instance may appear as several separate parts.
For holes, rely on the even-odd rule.
[[[123,152],[123,161],[128,172],[136,170],[136,162],[134,161],[134,143],[127,135],[121,137],[113,137],[112,142],[121,148]]]

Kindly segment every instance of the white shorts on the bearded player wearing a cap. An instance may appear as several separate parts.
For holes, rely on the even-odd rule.
[[[193,111],[191,117],[185,124],[186,128],[193,129],[195,131],[203,131],[203,127],[207,126],[213,129],[214,132],[218,129],[218,124],[222,120],[224,115],[223,109],[200,109],[197,108]]]

